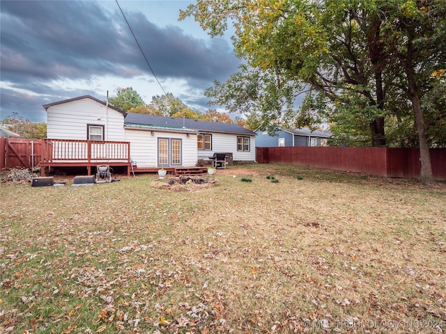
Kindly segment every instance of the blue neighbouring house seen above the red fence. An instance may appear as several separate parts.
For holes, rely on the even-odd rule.
[[[315,130],[307,128],[295,130],[279,129],[275,136],[268,132],[256,132],[257,148],[277,148],[280,146],[326,146],[332,136],[330,131]]]

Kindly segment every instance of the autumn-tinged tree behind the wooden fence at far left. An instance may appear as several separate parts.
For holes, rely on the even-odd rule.
[[[4,118],[0,125],[20,135],[20,138],[40,139],[47,136],[47,124],[45,122],[33,123],[20,116],[17,112]]]

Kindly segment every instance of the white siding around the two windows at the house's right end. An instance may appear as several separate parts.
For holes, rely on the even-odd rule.
[[[205,132],[203,132],[204,134]],[[249,136],[249,151],[242,152],[237,150],[237,137],[236,134],[218,134],[206,132],[206,134],[212,134],[212,150],[198,150],[198,159],[208,159],[215,152],[231,153],[233,155],[233,161],[255,161],[256,159],[256,137]]]

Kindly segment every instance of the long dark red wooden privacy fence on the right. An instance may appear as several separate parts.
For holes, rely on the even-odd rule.
[[[446,180],[446,149],[430,150],[433,177]],[[417,148],[256,148],[259,164],[295,164],[385,177],[419,178]]]

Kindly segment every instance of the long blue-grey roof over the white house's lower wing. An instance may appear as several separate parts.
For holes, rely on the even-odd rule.
[[[147,115],[144,113],[128,113],[124,125],[151,125],[153,127],[176,127],[199,130],[200,132],[221,132],[226,134],[244,134],[255,136],[255,133],[233,123],[209,122],[207,120],[191,120],[190,118],[174,118],[167,116]]]

